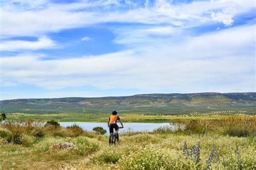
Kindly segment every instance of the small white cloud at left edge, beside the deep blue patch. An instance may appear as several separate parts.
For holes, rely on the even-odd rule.
[[[38,38],[37,41],[9,40],[1,41],[0,51],[37,50],[55,48],[56,43],[47,37]]]

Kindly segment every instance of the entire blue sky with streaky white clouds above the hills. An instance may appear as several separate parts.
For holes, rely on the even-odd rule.
[[[251,0],[0,6],[0,100],[256,91]]]

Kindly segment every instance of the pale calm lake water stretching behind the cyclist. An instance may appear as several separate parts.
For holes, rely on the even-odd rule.
[[[106,123],[96,123],[96,122],[59,122],[60,125],[66,127],[73,124],[79,125],[84,130],[92,131],[93,128],[97,126],[101,126],[104,128],[107,133],[109,133],[109,128],[107,128]],[[124,129],[120,129],[119,132],[122,133],[122,131],[127,131],[129,129],[133,131],[153,131],[154,129],[157,129],[161,126],[172,126],[173,129],[176,127],[174,125],[170,125],[169,123],[124,123]],[[118,123],[118,126],[121,126],[120,123]]]

